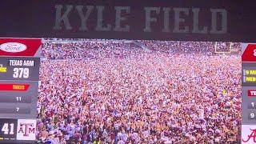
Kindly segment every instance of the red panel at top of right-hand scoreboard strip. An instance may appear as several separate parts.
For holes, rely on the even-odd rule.
[[[242,54],[242,62],[256,62],[256,44],[248,44]]]

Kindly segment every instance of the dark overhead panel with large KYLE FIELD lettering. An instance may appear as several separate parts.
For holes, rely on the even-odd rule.
[[[0,37],[256,42],[253,0],[8,0]]]

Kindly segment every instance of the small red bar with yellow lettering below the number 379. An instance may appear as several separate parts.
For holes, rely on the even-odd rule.
[[[27,84],[0,84],[0,91],[26,91],[29,87]]]

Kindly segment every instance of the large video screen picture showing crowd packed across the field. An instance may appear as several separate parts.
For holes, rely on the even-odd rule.
[[[237,143],[241,44],[44,38],[40,142]]]

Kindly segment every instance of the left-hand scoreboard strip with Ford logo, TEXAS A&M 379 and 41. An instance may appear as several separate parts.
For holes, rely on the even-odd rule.
[[[0,39],[0,143],[35,143],[41,39]]]

